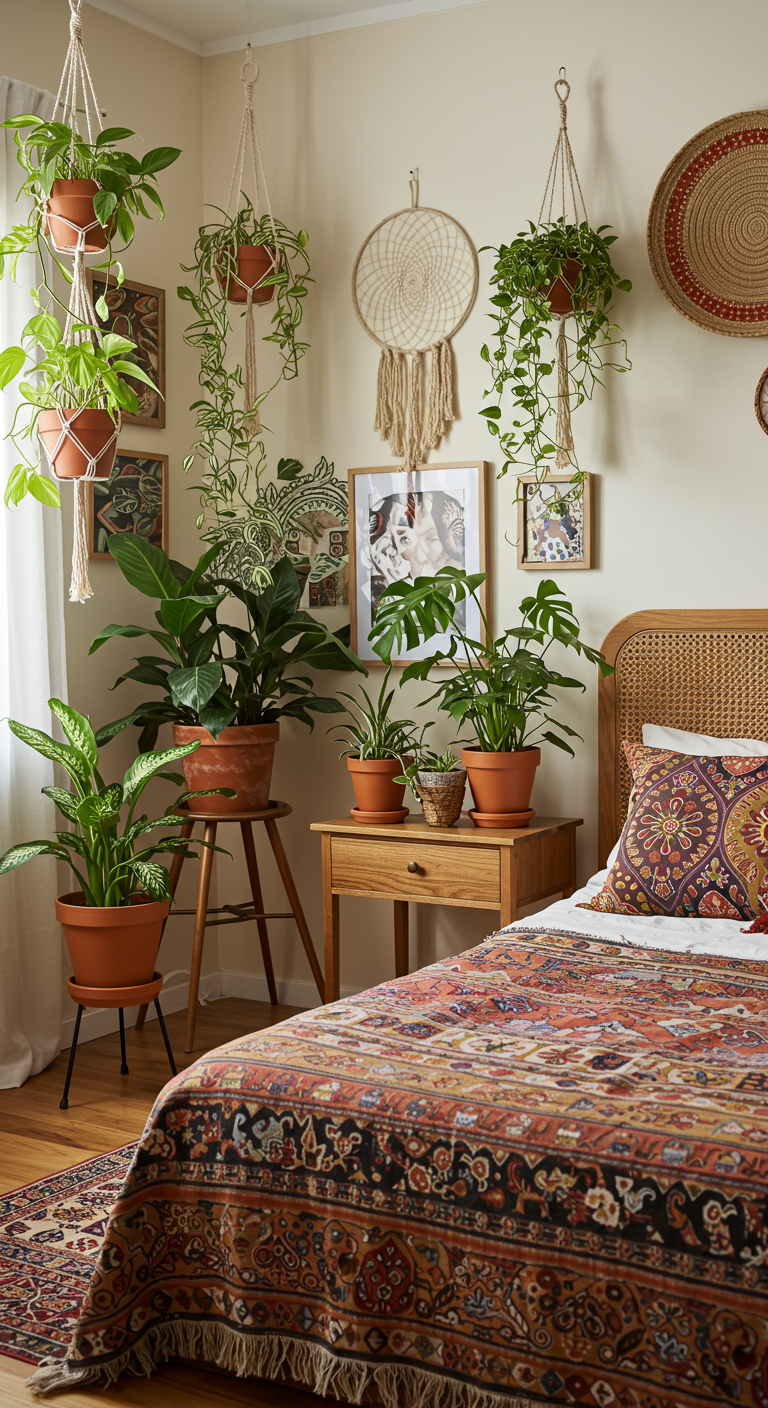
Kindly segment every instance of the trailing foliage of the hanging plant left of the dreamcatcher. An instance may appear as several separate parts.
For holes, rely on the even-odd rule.
[[[197,439],[193,452],[183,462],[187,473],[196,456],[203,462],[203,513],[197,520],[199,528],[204,522],[206,496],[211,501],[234,498],[242,474],[255,474],[258,482],[264,444],[254,441],[247,422],[279,382],[290,382],[299,375],[299,362],[309,349],[309,342],[302,342],[297,337],[303,300],[307,284],[311,283],[306,253],[309,235],[306,230],[293,234],[282,221],[272,222],[268,215],[256,217],[252,203],[244,199],[244,208],[234,217],[220,211],[221,220],[200,227],[194,259],[190,265],[182,265],[185,273],[194,275],[196,287],[182,284],[178,289],[179,298],[189,303],[196,314],[185,332],[185,342],[200,355],[199,382],[206,393],[192,404],[197,414]],[[237,272],[238,245],[266,245],[273,251],[275,269],[261,283],[261,287],[275,289],[272,331],[264,341],[275,344],[282,358],[278,377],[248,411],[242,408],[242,367],[238,363],[230,370],[225,365],[231,310],[244,310],[244,304],[227,303],[225,293],[230,276]]]

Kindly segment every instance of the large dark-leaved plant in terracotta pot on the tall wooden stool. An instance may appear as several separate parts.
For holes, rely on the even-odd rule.
[[[216,797],[209,810],[264,811],[280,718],[297,718],[313,728],[313,712],[344,711],[338,698],[314,693],[307,667],[366,670],[347,645],[348,627],[334,635],[299,610],[300,586],[287,558],[275,565],[262,591],[251,591],[228,577],[207,576],[218,552],[220,543],[213,543],[190,570],[145,538],[110,538],[110,553],[125,580],[158,600],[159,629],[109,625],[92,642],[90,653],[116,635],[148,635],[168,659],[138,656],[135,667],[120,676],[117,684],[138,680],[158,686],[163,696],[140,704],[96,736],[104,743],[135,724],[145,750],[154,748],[161,724],[172,724],[176,743],[200,745],[182,765],[187,786],[237,791],[237,797]],[[245,608],[242,627],[218,620],[218,608],[233,597]],[[200,810],[194,800],[189,808]]]

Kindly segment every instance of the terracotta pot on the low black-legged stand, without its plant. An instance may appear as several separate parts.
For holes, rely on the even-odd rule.
[[[75,981],[86,987],[151,983],[171,900],[90,908],[80,890],[56,900]]]

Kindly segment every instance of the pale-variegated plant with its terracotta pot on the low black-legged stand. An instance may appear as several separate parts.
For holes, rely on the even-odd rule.
[[[61,765],[72,790],[44,787],[68,825],[55,841],[27,841],[0,856],[0,874],[34,856],[65,860],[78,880],[78,890],[56,900],[56,918],[63,926],[76,983],[85,987],[127,988],[149,983],[163,921],[171,907],[171,877],[155,855],[183,855],[197,859],[190,841],[179,835],[147,843],[142,838],[158,826],[178,825],[169,817],[190,800],[182,793],[165,817],[149,821],[135,815],[137,803],[151,777],[175,783],[182,779],[166,769],[187,758],[200,745],[185,743],[161,753],[141,753],[121,783],[104,784],[99,772],[99,748],[87,718],[61,700],[48,701],[68,738],[58,743],[48,734],[16,719],[8,727],[23,743]],[[120,825],[121,812],[127,814]],[[216,848],[220,849],[220,848]]]

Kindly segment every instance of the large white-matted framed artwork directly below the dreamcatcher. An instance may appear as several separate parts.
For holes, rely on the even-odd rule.
[[[392,465],[349,470],[351,645],[366,665],[382,665],[368,636],[386,587],[448,566],[485,572],[486,474],[483,459],[419,465],[411,474]],[[486,586],[481,589],[483,611]],[[461,604],[457,620],[483,639],[473,601]],[[395,663],[423,659],[448,643],[448,634],[435,635]]]

